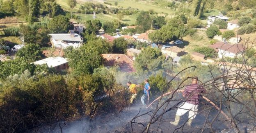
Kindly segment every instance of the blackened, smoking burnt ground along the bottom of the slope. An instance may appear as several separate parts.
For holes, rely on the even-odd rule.
[[[175,103],[171,103],[174,105]],[[169,105],[171,106],[171,105]],[[154,106],[153,106],[154,107]],[[89,121],[87,118],[84,119],[78,119],[73,122],[65,122],[65,126],[62,128],[63,133],[132,133],[132,128],[130,121],[135,117],[140,110],[139,115],[146,113],[150,110],[153,110],[154,108],[143,108],[140,104],[139,99],[137,100],[137,103],[135,105],[129,106],[119,114],[116,113],[110,113],[110,114],[103,114],[101,116],[96,117],[94,120]],[[199,112],[205,108],[209,107],[207,103],[199,104]],[[215,108],[212,108],[209,115],[209,121],[211,121],[217,113],[217,110]],[[155,122],[151,125],[149,128],[149,133],[201,133],[203,124],[206,119],[206,115],[208,114],[208,111],[205,111],[203,113],[200,113],[197,115],[197,117],[192,122],[192,127],[188,127],[186,124],[183,128],[180,128],[175,131],[176,128],[183,125],[188,118],[188,113],[186,113],[184,116],[181,117],[181,121],[179,126],[174,126],[170,124],[170,121],[174,121],[176,114],[176,110],[171,110],[163,116],[162,121],[160,122],[160,126],[158,128],[158,122]],[[142,117],[138,117],[135,122],[141,123],[141,124],[133,124],[133,132],[134,133],[141,133],[144,129],[144,126],[146,126],[150,119],[150,113],[149,115],[144,115]],[[143,126],[143,125],[144,126]],[[64,122],[62,122],[62,125],[64,125]],[[217,120],[213,124],[213,130],[215,132],[219,133],[236,133],[236,130],[234,128],[231,128],[230,122],[227,122],[225,117],[223,115],[219,115],[217,117]],[[250,133],[252,130],[250,127],[251,125],[238,125],[241,129],[242,133]],[[58,128],[58,125],[53,125],[52,128],[49,127],[42,127],[39,129],[39,132],[43,133],[60,133],[60,130]],[[205,126],[203,133],[210,133],[210,127]]]

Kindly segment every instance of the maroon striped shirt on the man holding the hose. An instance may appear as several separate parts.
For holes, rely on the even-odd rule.
[[[187,103],[197,105],[199,104],[200,93],[206,93],[206,90],[195,83],[186,86],[183,95],[187,97]]]

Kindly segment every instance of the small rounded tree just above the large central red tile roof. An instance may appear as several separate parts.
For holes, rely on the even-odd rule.
[[[127,49],[128,42],[123,38],[117,38],[113,41],[113,53],[124,54]]]

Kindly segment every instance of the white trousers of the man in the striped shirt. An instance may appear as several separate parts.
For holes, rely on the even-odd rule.
[[[197,110],[198,110],[198,105],[194,105],[194,104],[189,104],[187,102],[181,104],[181,106],[178,107],[178,110],[176,112],[176,115],[184,115],[185,113],[187,113],[187,111],[189,111],[189,115],[188,117],[190,119],[194,119],[197,115]]]

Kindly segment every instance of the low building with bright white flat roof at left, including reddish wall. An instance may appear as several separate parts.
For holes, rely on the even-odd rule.
[[[68,61],[63,57],[48,57],[39,61],[33,62],[35,65],[46,64],[49,68],[55,68],[57,72],[64,70],[68,67]]]

